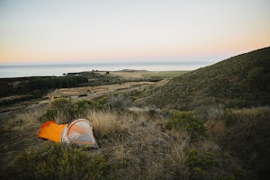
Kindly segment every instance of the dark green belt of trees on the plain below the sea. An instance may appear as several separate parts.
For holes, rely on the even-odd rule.
[[[88,79],[91,79],[88,81]],[[42,94],[50,89],[68,88],[82,85],[109,85],[124,82],[113,76],[99,75],[92,72],[68,73],[67,76],[30,76],[16,78],[0,78],[0,96],[12,94],[31,94],[41,91]]]

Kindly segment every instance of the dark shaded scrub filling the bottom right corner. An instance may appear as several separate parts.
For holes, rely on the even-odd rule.
[[[217,134],[217,143],[252,170],[257,179],[269,177],[270,109],[259,107],[225,112],[226,129]]]

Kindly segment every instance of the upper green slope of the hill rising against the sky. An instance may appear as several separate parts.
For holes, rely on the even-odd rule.
[[[249,107],[270,103],[270,48],[258,49],[175,77],[146,93],[146,102],[166,109],[202,105]]]

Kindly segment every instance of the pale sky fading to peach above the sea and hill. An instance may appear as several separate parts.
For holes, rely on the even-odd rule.
[[[222,60],[268,46],[269,0],[0,0],[0,64]]]

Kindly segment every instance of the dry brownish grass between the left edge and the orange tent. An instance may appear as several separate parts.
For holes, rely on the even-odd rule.
[[[7,166],[14,161],[14,157],[25,148],[40,146],[37,137],[41,122],[38,118],[42,114],[40,108],[30,111],[3,116],[0,125],[0,164]],[[3,118],[3,119],[2,119]],[[1,168],[0,168],[1,169]]]

